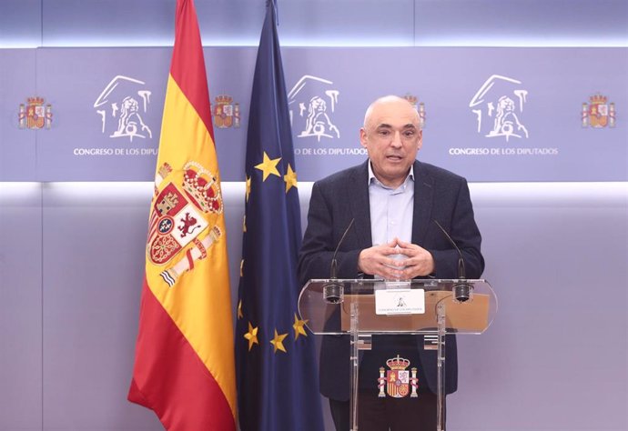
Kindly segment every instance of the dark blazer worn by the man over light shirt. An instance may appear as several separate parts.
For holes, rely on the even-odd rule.
[[[370,235],[369,161],[316,182],[309,201],[308,227],[299,253],[299,281],[329,278],[331,257],[340,236],[352,218],[350,229],[337,256],[338,277],[358,278],[360,251],[372,246]],[[437,220],[461,249],[467,278],[479,278],[484,269],[481,235],[473,217],[467,181],[449,171],[414,162],[414,216],[412,243],[430,251],[435,278],[458,276],[458,252],[441,230]],[[416,336],[420,367],[430,391],[437,390],[436,351],[423,350],[422,336]],[[374,342],[375,344],[375,342]],[[420,346],[420,347],[419,347]],[[375,350],[375,346],[373,346]],[[458,363],[454,336],[446,341],[446,392],[457,389]],[[346,358],[346,359],[345,359]],[[380,366],[384,366],[381,364]],[[375,379],[377,376],[373,376]],[[324,336],[320,357],[320,393],[332,399],[349,399],[349,338]]]

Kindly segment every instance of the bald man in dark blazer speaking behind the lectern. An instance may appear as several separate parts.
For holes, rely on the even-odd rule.
[[[460,258],[466,276],[480,278],[481,235],[467,181],[416,160],[422,145],[417,110],[398,96],[377,99],[366,111],[360,144],[366,162],[313,185],[300,282],[329,278],[337,247],[339,278],[458,278]],[[451,394],[457,389],[454,336],[447,337],[446,356]],[[436,351],[424,349],[423,336],[373,336],[359,379],[360,431],[436,429]],[[348,430],[349,336],[323,337],[320,392],[329,398],[336,429]]]

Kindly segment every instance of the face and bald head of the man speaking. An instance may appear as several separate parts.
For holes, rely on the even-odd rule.
[[[401,185],[422,144],[417,111],[403,99],[376,102],[360,129],[360,143],[380,182]]]

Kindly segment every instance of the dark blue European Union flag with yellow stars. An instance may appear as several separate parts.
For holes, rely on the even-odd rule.
[[[248,115],[236,326],[243,431],[324,428],[314,338],[300,320],[299,191],[275,5],[267,2]]]

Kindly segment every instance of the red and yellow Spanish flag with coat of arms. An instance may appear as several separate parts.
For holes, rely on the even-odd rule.
[[[128,394],[170,431],[236,429],[227,238],[206,76],[193,1],[177,0]]]

